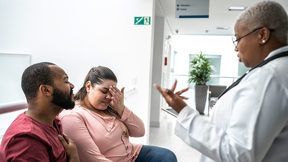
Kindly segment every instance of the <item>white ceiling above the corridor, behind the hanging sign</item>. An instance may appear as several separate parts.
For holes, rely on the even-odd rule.
[[[166,17],[173,34],[177,34],[175,30],[178,30],[178,34],[186,35],[234,35],[236,17],[241,11],[229,11],[229,6],[249,7],[260,1],[262,0],[210,0],[209,18],[175,18],[176,0],[156,0],[155,14]],[[274,1],[288,12],[288,0]],[[216,29],[217,27],[229,29]]]

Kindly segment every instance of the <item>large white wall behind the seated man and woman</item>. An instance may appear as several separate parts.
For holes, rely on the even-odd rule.
[[[136,88],[124,94],[125,105],[149,130],[153,29],[134,25],[134,17],[153,18],[154,2],[2,0],[0,53],[31,54],[32,64],[55,63],[66,71],[74,91],[91,67],[109,67],[118,87]],[[137,78],[135,85],[131,77]],[[148,134],[131,141],[146,144]]]

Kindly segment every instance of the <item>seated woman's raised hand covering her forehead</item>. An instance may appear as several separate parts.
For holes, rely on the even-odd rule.
[[[120,118],[124,112],[124,88],[121,91],[116,86],[110,86],[109,91],[112,95],[111,99],[113,101],[113,108],[118,112]]]

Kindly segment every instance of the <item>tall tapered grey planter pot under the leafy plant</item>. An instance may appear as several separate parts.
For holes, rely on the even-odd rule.
[[[200,114],[204,114],[205,104],[207,100],[207,85],[195,85],[195,103],[196,110]]]

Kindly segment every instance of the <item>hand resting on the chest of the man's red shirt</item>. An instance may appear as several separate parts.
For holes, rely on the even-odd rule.
[[[64,133],[63,133],[63,137],[61,135],[58,135],[58,139],[62,143],[62,145],[66,151],[67,160],[69,162],[79,162],[80,160],[79,160],[79,156],[78,156],[77,147],[76,147],[75,142],[73,140],[71,140],[71,138],[68,137],[68,135],[66,135]]]

